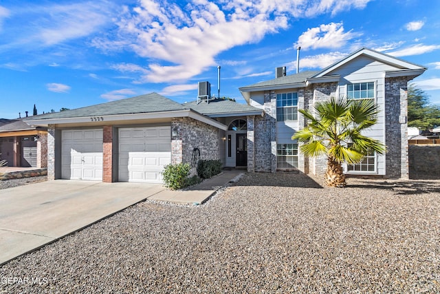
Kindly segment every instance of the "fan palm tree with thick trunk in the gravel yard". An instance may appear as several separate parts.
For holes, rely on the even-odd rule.
[[[386,151],[379,140],[361,134],[362,130],[375,125],[379,109],[369,99],[346,98],[331,98],[317,103],[314,109],[316,116],[308,109],[299,109],[309,124],[296,132],[292,140],[303,143],[300,151],[306,156],[327,155],[326,185],[345,187],[342,162],[359,163],[374,151],[377,154]]]

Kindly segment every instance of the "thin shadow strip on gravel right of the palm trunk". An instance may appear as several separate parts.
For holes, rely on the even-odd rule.
[[[393,190],[396,195],[440,193],[440,182],[428,180],[365,181],[347,185],[347,188]]]

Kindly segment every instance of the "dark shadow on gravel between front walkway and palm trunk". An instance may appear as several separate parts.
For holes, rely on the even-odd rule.
[[[245,174],[234,186],[270,186],[324,189],[313,178],[305,174],[291,173],[249,173]]]

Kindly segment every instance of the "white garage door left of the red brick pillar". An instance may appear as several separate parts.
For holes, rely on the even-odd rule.
[[[102,180],[102,129],[64,130],[61,178]]]

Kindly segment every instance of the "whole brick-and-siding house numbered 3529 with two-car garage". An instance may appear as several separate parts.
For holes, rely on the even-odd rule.
[[[168,163],[220,159],[248,171],[325,171],[325,158],[307,158],[291,137],[305,126],[298,108],[331,96],[374,99],[379,123],[369,136],[388,146],[347,174],[408,178],[406,89],[425,67],[362,48],[319,72],[285,76],[241,87],[247,104],[199,97],[179,104],[156,93],[29,118],[47,127],[47,175],[104,182],[162,182]],[[276,71],[277,73],[280,71]]]

